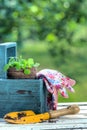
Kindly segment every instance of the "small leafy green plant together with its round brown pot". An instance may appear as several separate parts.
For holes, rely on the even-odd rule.
[[[11,57],[4,66],[4,70],[7,71],[7,76],[10,79],[34,79],[39,65],[34,62],[33,58]]]

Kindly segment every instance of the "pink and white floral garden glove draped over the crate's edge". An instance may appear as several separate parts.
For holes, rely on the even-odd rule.
[[[57,109],[58,92],[68,98],[66,89],[70,92],[75,92],[72,88],[75,85],[75,80],[63,75],[61,72],[52,69],[43,69],[37,73],[37,78],[42,78],[48,90],[48,107],[51,110]]]

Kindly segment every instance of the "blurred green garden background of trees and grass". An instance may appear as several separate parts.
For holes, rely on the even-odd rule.
[[[0,0],[0,43],[76,80],[59,102],[87,101],[87,0]]]

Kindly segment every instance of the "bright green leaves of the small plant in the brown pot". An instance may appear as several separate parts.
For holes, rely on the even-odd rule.
[[[4,70],[7,71],[10,67],[16,68],[16,70],[24,70],[24,74],[30,74],[30,70],[32,67],[38,67],[39,63],[34,63],[33,58],[23,59],[20,57],[11,57],[9,62],[4,66]]]

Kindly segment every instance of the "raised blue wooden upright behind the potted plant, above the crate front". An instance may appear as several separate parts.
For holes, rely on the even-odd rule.
[[[8,42],[0,44],[0,78],[7,78],[7,73],[3,70],[10,57],[16,57],[16,43]]]

